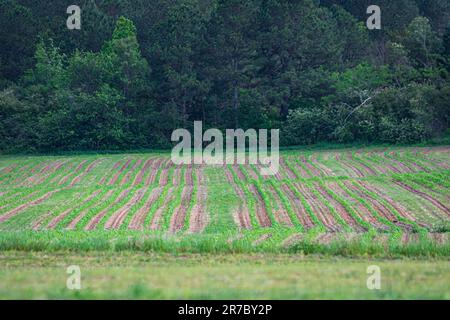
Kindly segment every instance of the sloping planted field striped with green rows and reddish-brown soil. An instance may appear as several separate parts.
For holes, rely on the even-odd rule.
[[[450,147],[0,158],[0,248],[449,254]]]

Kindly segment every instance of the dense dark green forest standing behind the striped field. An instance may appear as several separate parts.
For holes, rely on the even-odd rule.
[[[73,2],[0,0],[3,152],[167,148],[195,120],[285,146],[448,130],[448,0],[80,0],[69,30]]]

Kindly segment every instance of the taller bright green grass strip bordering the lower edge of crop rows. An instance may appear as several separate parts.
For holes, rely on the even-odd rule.
[[[270,236],[263,242],[258,239]],[[301,239],[286,244],[290,237]],[[90,252],[90,251],[139,251],[160,253],[291,253],[321,254],[342,257],[450,257],[450,242],[437,243],[427,234],[415,242],[402,243],[400,234],[384,234],[385,240],[377,240],[380,234],[336,234],[328,243],[317,241],[314,230],[297,234],[292,229],[253,230],[244,233],[182,234],[168,235],[163,232],[146,234],[133,231],[18,231],[0,233],[0,251],[42,252]],[[348,236],[352,236],[349,238]]]

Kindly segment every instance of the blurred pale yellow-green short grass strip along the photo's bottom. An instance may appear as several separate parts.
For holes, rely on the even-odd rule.
[[[81,290],[66,288],[78,265]],[[381,290],[367,289],[367,267]],[[302,254],[0,253],[0,299],[450,299],[448,260]]]

